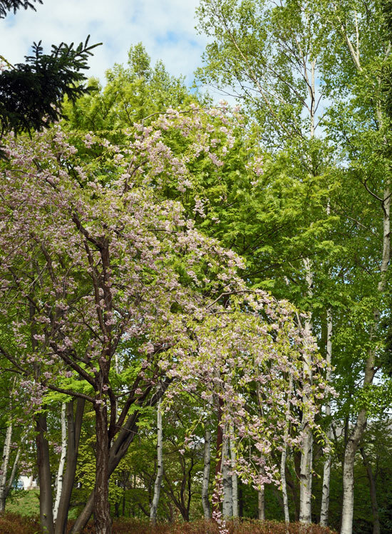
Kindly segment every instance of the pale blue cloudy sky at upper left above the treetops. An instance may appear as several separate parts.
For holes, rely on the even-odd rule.
[[[153,59],[167,70],[185,75],[192,83],[200,66],[205,37],[195,30],[198,0],[43,0],[43,5],[0,19],[0,54],[11,63],[24,61],[33,41],[79,43],[91,34],[91,43],[103,42],[90,59],[88,76],[104,73],[113,63],[126,63],[132,44],[143,42]]]

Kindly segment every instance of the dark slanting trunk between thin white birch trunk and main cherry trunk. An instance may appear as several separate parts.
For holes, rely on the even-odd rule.
[[[76,461],[78,460],[79,441],[83,421],[84,399],[78,399],[76,404],[75,420],[73,419],[73,401],[67,404],[68,443],[67,443],[67,467],[63,481],[60,503],[56,519],[55,534],[66,534],[68,510],[71,503],[73,483],[75,481]]]

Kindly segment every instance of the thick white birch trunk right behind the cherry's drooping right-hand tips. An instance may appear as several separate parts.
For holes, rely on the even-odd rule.
[[[306,285],[308,287],[308,296],[313,296],[313,272],[311,270],[311,262],[309,258],[304,259]],[[311,318],[306,319],[305,331],[311,334]],[[304,355],[304,380],[311,384],[313,379],[311,371],[311,356]],[[304,397],[306,404],[306,397]],[[302,430],[304,431],[304,439],[301,446],[301,463],[299,468],[299,521],[301,523],[311,523],[311,468],[312,468],[312,451],[313,451],[313,435],[309,426],[308,416],[306,411],[302,416]]]

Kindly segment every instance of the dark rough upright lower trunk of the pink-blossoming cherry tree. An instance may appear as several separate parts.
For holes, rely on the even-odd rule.
[[[96,486],[94,488],[94,525],[99,534],[111,534],[109,505],[108,407],[96,404]]]

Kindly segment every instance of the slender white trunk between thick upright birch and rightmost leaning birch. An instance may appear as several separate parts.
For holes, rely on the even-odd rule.
[[[331,308],[326,310],[326,382],[329,384],[331,381],[331,360],[332,360],[332,314]],[[326,404],[326,416],[331,416],[331,401]],[[326,434],[329,441],[332,439],[332,426],[329,423],[328,431]],[[320,513],[320,525],[326,527],[328,525],[328,513],[329,513],[329,484],[331,480],[331,454],[328,453],[324,462],[323,473],[323,489],[321,496],[321,513]]]

